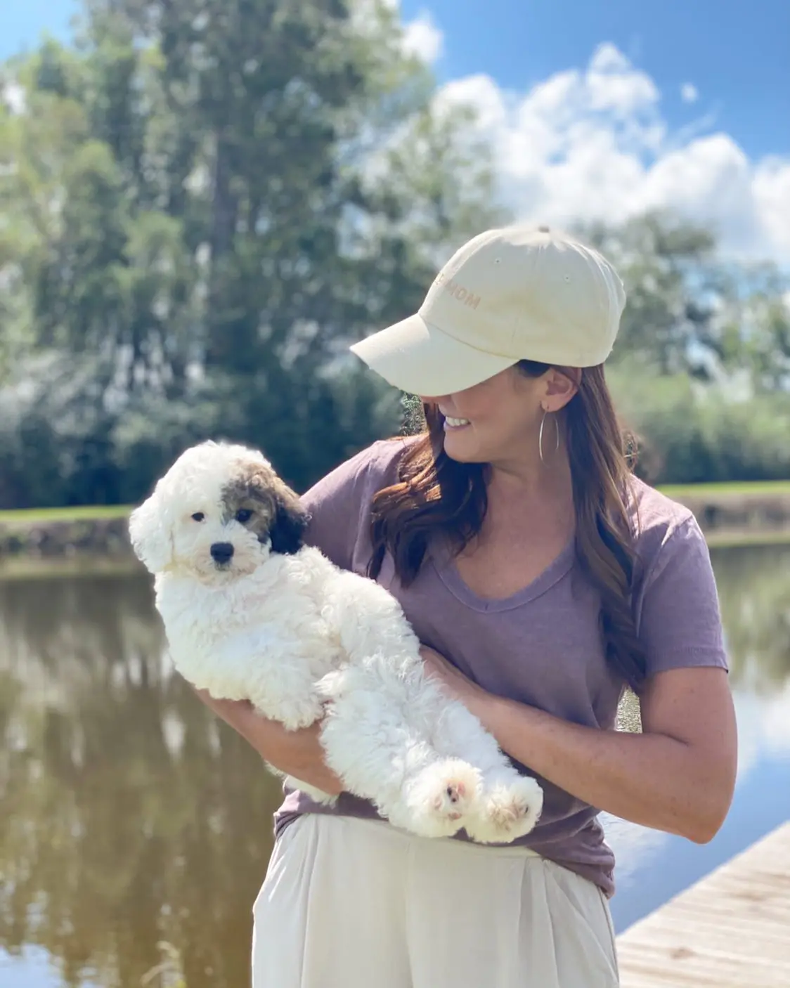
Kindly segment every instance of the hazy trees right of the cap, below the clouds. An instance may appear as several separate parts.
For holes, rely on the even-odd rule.
[[[790,280],[774,265],[726,261],[710,231],[670,213],[584,233],[627,288],[614,363],[728,385],[746,373],[754,391],[787,387]]]

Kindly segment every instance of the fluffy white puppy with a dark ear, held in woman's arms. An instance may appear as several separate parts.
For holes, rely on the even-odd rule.
[[[291,730],[323,717],[326,764],[395,826],[483,843],[528,833],[541,787],[424,675],[395,598],[303,544],[307,521],[261,453],[209,442],[176,460],[130,520],[176,668]]]

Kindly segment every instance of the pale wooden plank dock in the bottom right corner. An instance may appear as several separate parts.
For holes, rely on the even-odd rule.
[[[617,940],[622,988],[790,988],[790,822]]]

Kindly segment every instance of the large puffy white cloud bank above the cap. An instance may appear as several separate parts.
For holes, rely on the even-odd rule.
[[[673,208],[711,225],[734,256],[790,264],[790,158],[750,160],[710,120],[672,131],[653,79],[613,44],[527,92],[473,75],[438,100],[478,108],[502,195],[521,219],[618,222]]]

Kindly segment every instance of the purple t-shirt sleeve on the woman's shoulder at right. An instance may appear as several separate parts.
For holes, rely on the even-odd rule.
[[[658,549],[645,584],[639,637],[648,676],[689,666],[728,668],[710,552],[693,515]]]

